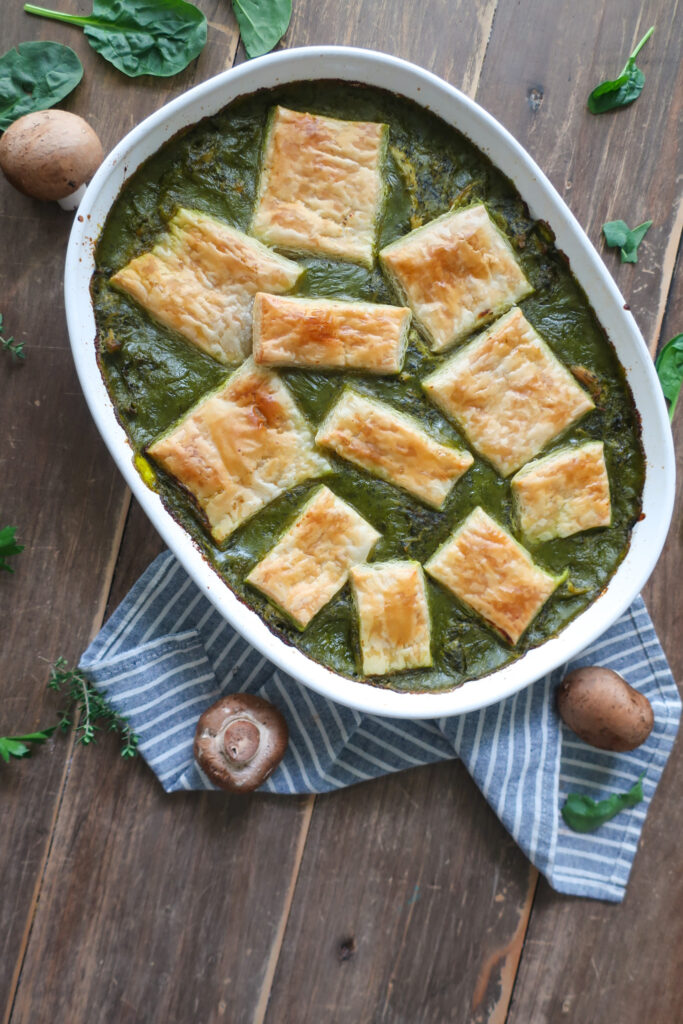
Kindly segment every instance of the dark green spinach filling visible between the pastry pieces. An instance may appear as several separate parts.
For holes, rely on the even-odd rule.
[[[444,213],[454,203],[485,202],[533,285],[533,294],[520,302],[524,315],[596,403],[594,411],[543,454],[589,439],[604,441],[612,525],[564,540],[530,545],[519,537],[509,482],[479,458],[455,485],[443,508],[435,511],[331,456],[335,472],[325,478],[326,484],[382,531],[372,561],[399,558],[424,563],[456,524],[481,505],[521,540],[541,567],[556,574],[568,569],[567,580],[516,647],[428,580],[433,667],[369,682],[396,690],[453,688],[538,646],[605,587],[628,549],[632,526],[640,514],[644,461],[638,415],[615,353],[566,260],[553,245],[552,233],[543,223],[531,220],[511,182],[471,142],[435,116],[393,94],[340,82],[297,83],[240,98],[176,136],[125,184],[104,224],[91,289],[99,358],[136,453],[143,454],[154,438],[220,384],[227,373],[153,322],[130,298],[112,288],[109,280],[134,256],[152,248],[179,206],[249,229],[263,132],[268,111],[275,103],[338,118],[383,121],[390,126],[387,200],[379,248]],[[368,270],[315,257],[298,261],[305,273],[293,294],[396,301],[377,265]],[[426,400],[420,387],[420,381],[447,354],[432,354],[412,330],[403,372],[395,377],[302,370],[284,370],[282,376],[315,427],[351,378],[356,390],[416,416],[436,438],[471,449]],[[319,482],[307,481],[266,506],[222,549],[211,541],[186,492],[161,471],[157,471],[156,486],[209,562],[274,633],[315,660],[358,679],[357,624],[348,586],[299,633],[244,583]]]

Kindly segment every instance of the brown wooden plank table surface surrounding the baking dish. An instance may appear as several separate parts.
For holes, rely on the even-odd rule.
[[[245,58],[228,0],[198,6],[208,44],[170,80],[124,78],[19,0],[4,0],[1,48],[74,47],[85,78],[63,105],[108,148]],[[590,116],[590,89],[652,24],[641,98]],[[284,45],[313,43],[398,54],[475,97],[564,196],[652,351],[683,330],[678,0],[294,0]],[[637,265],[603,249],[615,218],[653,220]],[[0,310],[27,350],[16,367],[0,353],[0,526],[26,544],[0,580],[0,735],[54,720],[47,663],[78,659],[162,547],[76,379],[61,293],[71,220],[0,182]],[[683,411],[676,433],[683,453]],[[679,482],[679,509],[680,497]],[[678,514],[645,593],[678,679],[682,547]],[[615,906],[554,893],[455,762],[317,798],[168,797],[113,738],[55,738],[0,767],[3,1020],[681,1021],[682,761],[679,743]]]

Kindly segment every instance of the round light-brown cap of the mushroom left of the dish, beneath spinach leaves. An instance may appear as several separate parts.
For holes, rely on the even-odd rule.
[[[0,169],[34,199],[59,200],[89,181],[102,146],[87,121],[67,111],[36,111],[14,121],[0,138]]]

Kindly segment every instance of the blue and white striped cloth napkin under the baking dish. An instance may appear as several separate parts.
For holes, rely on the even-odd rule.
[[[559,721],[554,690],[568,669],[608,666],[649,697],[654,729],[632,754],[583,743]],[[463,760],[524,853],[559,892],[618,902],[671,752],[681,701],[641,598],[569,666],[480,712],[431,721],[361,715],[279,672],[215,610],[170,553],[160,555],[81,658],[81,669],[139,736],[168,793],[210,790],[193,759],[200,714],[221,694],[257,693],[285,715],[290,742],[264,785],[326,793],[416,765]],[[468,685],[476,686],[476,682]],[[569,830],[570,792],[602,799],[642,772],[644,801],[598,833]]]

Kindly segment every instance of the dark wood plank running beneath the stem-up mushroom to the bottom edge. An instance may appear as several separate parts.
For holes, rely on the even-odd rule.
[[[161,548],[133,505],[108,614]],[[282,941],[311,802],[169,798],[141,760],[117,757],[110,737],[77,748],[13,1024],[251,1021]]]

